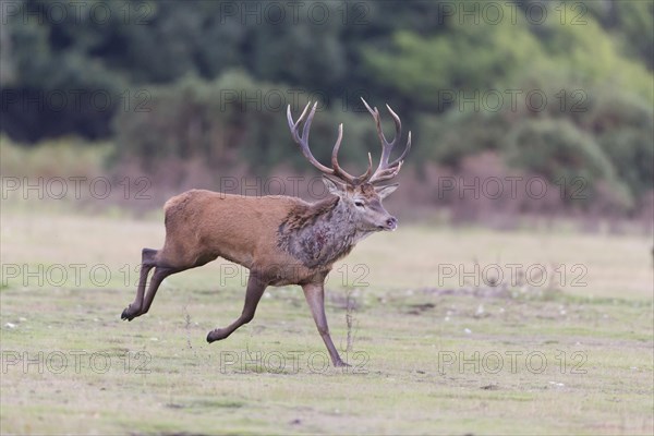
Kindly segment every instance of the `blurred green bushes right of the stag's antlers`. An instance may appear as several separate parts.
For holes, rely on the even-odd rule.
[[[561,110],[558,101],[542,112],[524,105],[498,112],[450,109],[419,119],[415,154],[421,162],[459,169],[468,156],[496,152],[508,168],[541,174],[553,185],[583,183],[588,195],[578,199],[584,207],[596,195],[610,195],[629,208],[654,184],[652,112],[635,96],[600,88],[584,89],[578,111]]]

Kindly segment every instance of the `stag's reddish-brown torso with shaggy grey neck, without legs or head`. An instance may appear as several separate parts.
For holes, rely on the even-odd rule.
[[[328,272],[371,233],[358,230],[339,203],[338,196],[310,204],[281,195],[187,191],[164,207],[166,243],[155,258],[187,269],[222,257],[274,280],[270,284],[302,284]]]

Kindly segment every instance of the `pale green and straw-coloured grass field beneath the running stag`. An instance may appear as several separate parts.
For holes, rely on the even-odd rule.
[[[122,322],[159,220],[1,218],[2,434],[653,432],[651,235],[374,235],[328,282],[341,350],[353,319],[341,370],[296,287],[207,344],[242,305],[226,263],[170,277]]]

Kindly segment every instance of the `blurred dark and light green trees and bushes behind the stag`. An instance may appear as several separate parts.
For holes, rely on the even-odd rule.
[[[301,168],[286,107],[317,99],[315,155],[342,122],[355,167],[378,153],[364,97],[411,126],[416,173],[492,153],[623,210],[654,183],[652,1],[84,4],[3,2],[4,143],[108,142],[145,172]]]

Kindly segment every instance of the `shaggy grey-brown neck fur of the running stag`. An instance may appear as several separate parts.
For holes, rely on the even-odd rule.
[[[299,206],[279,226],[279,246],[307,268],[331,266],[366,233],[338,196]]]

